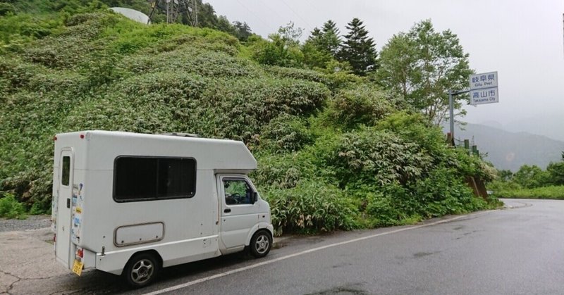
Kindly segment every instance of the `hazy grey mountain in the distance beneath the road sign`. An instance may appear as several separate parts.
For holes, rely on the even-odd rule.
[[[496,127],[467,124],[455,130],[455,138],[472,138],[480,153],[487,153],[486,161],[498,169],[519,170],[522,165],[537,165],[546,168],[548,163],[560,161],[564,151],[564,141],[527,132],[508,132]],[[448,130],[448,128],[446,128]]]

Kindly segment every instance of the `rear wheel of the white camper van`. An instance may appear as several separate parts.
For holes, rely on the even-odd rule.
[[[152,284],[157,278],[161,265],[152,253],[140,253],[128,261],[121,274],[131,287],[141,288]]]

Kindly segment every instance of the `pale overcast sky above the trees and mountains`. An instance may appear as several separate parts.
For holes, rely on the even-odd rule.
[[[204,0],[206,1],[206,0]],[[498,72],[499,103],[468,106],[469,123],[508,125],[524,118],[561,118],[564,129],[563,0],[209,0],[218,15],[247,22],[266,37],[290,20],[304,29],[333,20],[345,34],[364,22],[381,49],[393,34],[430,18],[435,30],[458,34],[470,68]]]

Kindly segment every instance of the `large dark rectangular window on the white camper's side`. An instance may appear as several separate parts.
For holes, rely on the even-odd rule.
[[[191,198],[195,192],[193,158],[120,156],[114,163],[117,202]]]

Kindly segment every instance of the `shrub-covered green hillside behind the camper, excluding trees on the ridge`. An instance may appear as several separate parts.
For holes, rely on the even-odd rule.
[[[489,206],[464,183],[487,179],[484,163],[363,78],[264,67],[228,34],[105,11],[65,17],[49,32],[8,40],[0,60],[0,193],[28,205],[50,207],[54,134],[123,130],[244,141],[278,233]]]

